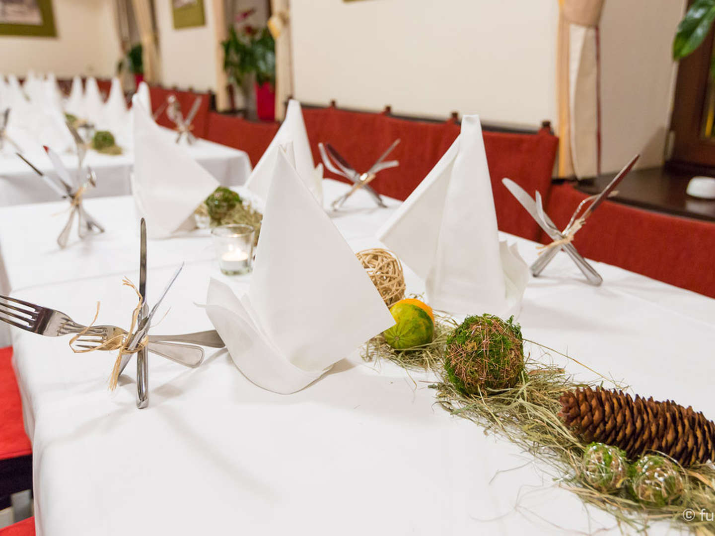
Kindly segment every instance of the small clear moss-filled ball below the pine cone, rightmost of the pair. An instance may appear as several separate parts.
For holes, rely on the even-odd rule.
[[[631,490],[644,505],[670,505],[683,493],[681,472],[676,465],[658,455],[645,455],[631,469]]]

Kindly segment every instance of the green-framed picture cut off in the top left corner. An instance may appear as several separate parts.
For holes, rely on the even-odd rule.
[[[0,0],[0,35],[55,37],[52,0]]]

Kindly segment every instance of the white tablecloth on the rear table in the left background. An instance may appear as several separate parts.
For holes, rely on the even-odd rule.
[[[176,133],[164,129],[167,137],[174,138]],[[25,147],[24,155],[43,173],[54,173],[53,168],[41,147]],[[225,145],[197,139],[192,145],[184,144],[187,152],[199,164],[207,169],[225,186],[244,184],[251,173],[251,163],[248,155],[238,149]],[[8,144],[0,152],[0,207],[15,204],[49,202],[57,199],[56,193],[22,162]],[[68,169],[77,168],[77,157],[74,154],[61,155]],[[89,151],[87,164],[97,173],[97,187],[89,189],[85,197],[106,197],[126,195],[132,192],[129,184],[129,174],[132,172],[134,155],[130,151],[111,156]]]

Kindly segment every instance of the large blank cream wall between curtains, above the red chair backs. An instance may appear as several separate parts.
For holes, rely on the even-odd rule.
[[[292,0],[302,101],[485,121],[556,117],[556,0]]]

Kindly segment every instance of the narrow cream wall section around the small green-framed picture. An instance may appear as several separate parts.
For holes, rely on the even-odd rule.
[[[204,0],[204,26],[177,30],[172,20],[171,0],[154,0],[161,80],[165,86],[216,91],[219,40],[212,6],[212,0]]]

